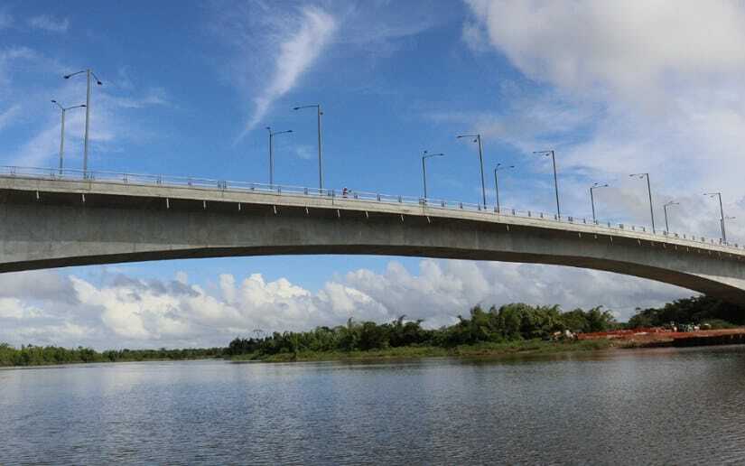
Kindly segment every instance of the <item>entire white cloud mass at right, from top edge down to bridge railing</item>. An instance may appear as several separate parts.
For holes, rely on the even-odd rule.
[[[687,0],[468,4],[477,23],[472,29],[485,30],[495,50],[548,90],[510,95],[502,89],[507,111],[461,119],[522,151],[539,143],[559,149],[568,211],[585,210],[588,182],[613,180],[624,190],[611,201],[613,217],[647,223],[644,190],[624,179],[629,172],[650,172],[658,226],[663,201],[675,198],[686,203],[676,212],[678,225],[717,238],[711,208],[700,199],[712,189],[724,191],[730,215],[743,217],[737,201],[745,197],[745,6]],[[546,95],[559,99],[546,101]],[[525,107],[535,111],[519,110]],[[735,222],[731,230],[741,242],[745,228]]]

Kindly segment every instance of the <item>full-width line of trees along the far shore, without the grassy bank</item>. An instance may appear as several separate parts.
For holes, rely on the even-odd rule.
[[[548,339],[556,332],[588,333],[616,329],[635,329],[676,323],[710,323],[712,328],[745,325],[745,307],[724,303],[708,296],[696,296],[667,303],[660,308],[638,309],[628,323],[616,322],[613,313],[602,306],[584,311],[562,312],[559,306],[532,306],[511,303],[500,307],[470,309],[467,317],[439,329],[426,329],[422,320],[356,322],[336,327],[317,327],[312,331],[275,331],[263,338],[236,338],[227,348],[207,349],[109,349],[96,351],[78,347],[23,345],[16,349],[0,343],[0,366],[38,366],[79,362],[118,362],[144,360],[182,360],[253,355],[257,358],[300,351],[367,351],[401,347],[453,348],[488,342]]]

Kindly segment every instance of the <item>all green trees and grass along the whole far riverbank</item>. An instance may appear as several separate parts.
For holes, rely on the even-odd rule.
[[[480,306],[469,317],[440,329],[424,329],[422,321],[354,322],[318,327],[312,331],[275,332],[265,338],[230,341],[228,348],[121,349],[98,352],[78,347],[22,346],[0,343],[0,366],[41,366],[86,362],[229,358],[233,360],[403,359],[424,357],[484,357],[515,353],[547,353],[608,348],[609,340],[564,339],[573,333],[620,328],[657,327],[670,322],[709,323],[712,328],[745,324],[745,308],[706,296],[667,303],[662,308],[638,310],[628,324],[616,322],[601,307],[562,312],[558,306],[523,303]]]

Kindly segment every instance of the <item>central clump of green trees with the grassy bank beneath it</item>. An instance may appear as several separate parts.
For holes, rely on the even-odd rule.
[[[608,311],[600,307],[589,311],[561,312],[558,306],[508,304],[484,311],[470,310],[470,318],[458,316],[449,327],[427,330],[422,321],[396,321],[377,324],[354,322],[312,331],[275,332],[262,339],[230,341],[226,354],[233,359],[318,360],[410,358],[422,356],[479,356],[518,350],[586,349],[601,343],[546,342],[563,331],[608,331],[617,328]]]

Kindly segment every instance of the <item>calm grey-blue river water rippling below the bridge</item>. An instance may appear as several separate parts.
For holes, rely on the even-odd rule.
[[[0,464],[745,462],[745,346],[0,370]]]

